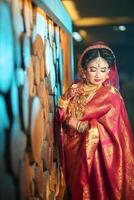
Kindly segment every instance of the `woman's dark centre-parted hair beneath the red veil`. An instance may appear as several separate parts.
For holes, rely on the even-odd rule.
[[[112,67],[115,63],[115,56],[112,51],[105,48],[101,48],[101,49],[98,48],[98,49],[89,50],[84,54],[81,61],[82,68],[86,70],[88,63],[91,60],[97,58],[98,56],[104,58],[107,61],[109,67]]]

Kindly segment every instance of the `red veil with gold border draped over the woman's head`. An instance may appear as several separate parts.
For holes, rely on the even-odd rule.
[[[85,53],[87,53],[88,51],[90,51],[92,49],[108,49],[111,51],[111,53],[113,54],[113,57],[115,59],[115,55],[114,55],[112,49],[110,47],[108,47],[104,42],[99,41],[99,42],[93,43],[92,45],[90,45],[89,47],[87,47],[84,50],[84,52],[81,54],[81,56],[79,58],[78,70],[79,70],[79,75],[80,75],[81,79],[83,77],[83,68],[81,65],[83,56],[85,55]],[[116,59],[115,59],[114,65],[110,68],[108,76],[109,76],[109,78],[103,84],[114,86],[115,88],[117,88],[119,90],[119,76],[118,76],[118,71],[117,71],[117,66],[116,66]]]

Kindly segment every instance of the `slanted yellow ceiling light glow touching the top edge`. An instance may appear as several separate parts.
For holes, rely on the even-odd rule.
[[[75,3],[73,1],[67,0],[67,1],[62,1],[62,3],[73,21],[80,18],[79,13],[76,9]]]

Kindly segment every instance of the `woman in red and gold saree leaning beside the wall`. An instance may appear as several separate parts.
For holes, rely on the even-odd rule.
[[[113,51],[102,42],[79,60],[80,81],[59,98],[57,134],[71,200],[134,199],[134,145]]]

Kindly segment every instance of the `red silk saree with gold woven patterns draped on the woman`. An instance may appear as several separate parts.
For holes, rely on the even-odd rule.
[[[76,88],[80,94],[81,83]],[[71,101],[77,109],[74,97],[68,107]],[[114,87],[102,86],[83,109],[80,120],[89,122],[84,134],[65,131],[65,113],[58,110],[59,151],[71,200],[134,199],[134,146],[122,97]]]

